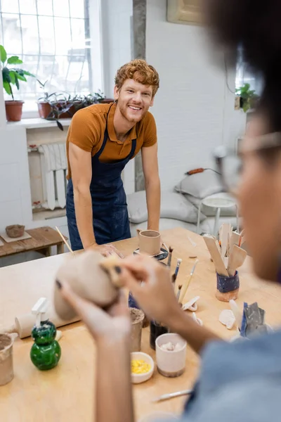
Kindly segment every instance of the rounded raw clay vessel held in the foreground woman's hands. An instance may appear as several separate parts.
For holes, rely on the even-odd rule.
[[[118,260],[117,257],[104,258],[100,253],[90,250],[81,252],[58,269],[55,279],[62,283],[67,282],[81,298],[91,300],[100,307],[106,307],[117,299],[121,287],[116,272],[111,271],[118,264]],[[56,283],[54,307],[61,319],[70,320],[76,316],[74,309],[63,299]]]

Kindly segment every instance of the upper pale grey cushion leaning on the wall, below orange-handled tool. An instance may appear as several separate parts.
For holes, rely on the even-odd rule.
[[[176,191],[203,199],[213,193],[223,192],[223,185],[216,172],[204,170],[202,173],[186,176],[176,185]]]

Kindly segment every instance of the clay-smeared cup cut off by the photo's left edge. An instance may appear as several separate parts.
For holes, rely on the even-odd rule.
[[[0,334],[0,385],[13,379],[13,340],[8,334]]]

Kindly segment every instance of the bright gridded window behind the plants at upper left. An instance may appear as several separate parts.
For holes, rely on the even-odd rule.
[[[91,91],[89,0],[0,0],[0,44],[19,56],[22,68],[46,83],[46,91]],[[35,78],[20,84],[15,99],[36,110],[43,94]],[[8,96],[6,96],[8,99]]]

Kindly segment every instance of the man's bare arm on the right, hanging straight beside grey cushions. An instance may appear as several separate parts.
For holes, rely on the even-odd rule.
[[[160,179],[158,172],[157,143],[141,150],[145,177],[146,203],[148,205],[148,229],[159,231]]]

